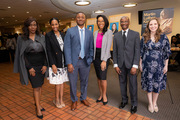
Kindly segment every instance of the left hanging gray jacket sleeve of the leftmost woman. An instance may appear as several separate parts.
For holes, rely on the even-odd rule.
[[[16,52],[15,52],[15,60],[14,60],[14,68],[13,72],[18,73],[19,72],[19,67],[20,67],[20,36],[17,39],[17,46],[16,46]]]

